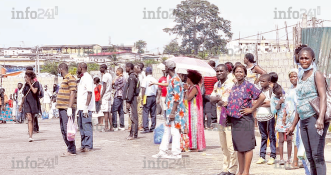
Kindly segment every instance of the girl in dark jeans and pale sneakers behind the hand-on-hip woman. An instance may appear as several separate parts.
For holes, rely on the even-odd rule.
[[[265,95],[265,99],[262,105],[257,108],[256,118],[259,125],[259,130],[261,133],[261,148],[260,148],[260,158],[256,164],[265,163],[265,154],[267,150],[268,137],[270,140],[270,158],[267,164],[273,164],[276,158],[276,136],[275,136],[275,117],[271,113],[270,109],[270,98],[272,90],[269,86],[271,81],[270,74],[263,74],[260,78],[260,84],[262,87],[262,93]]]

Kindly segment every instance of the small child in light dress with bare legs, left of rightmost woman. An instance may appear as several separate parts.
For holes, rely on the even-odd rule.
[[[287,141],[287,162],[289,163],[291,158],[291,150],[292,150],[292,136],[285,135],[286,129],[289,127],[289,125],[283,123],[283,117],[286,117],[286,112],[285,112],[285,103],[284,103],[285,98],[283,98],[282,87],[279,84],[274,83],[273,92],[275,96],[271,98],[270,107],[271,107],[271,112],[273,114],[277,114],[276,131],[278,132],[279,135],[279,145],[278,145],[279,155],[280,155],[279,165],[284,165],[285,164],[283,158],[284,140],[286,139]]]

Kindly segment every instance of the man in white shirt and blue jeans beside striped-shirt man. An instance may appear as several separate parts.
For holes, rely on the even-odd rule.
[[[93,150],[93,126],[92,111],[95,111],[95,96],[93,78],[87,72],[87,65],[84,62],[78,64],[77,72],[83,73],[77,90],[78,125],[81,135],[81,151]]]

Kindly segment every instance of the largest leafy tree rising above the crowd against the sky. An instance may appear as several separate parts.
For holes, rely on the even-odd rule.
[[[219,16],[219,8],[215,4],[207,0],[185,0],[177,5],[173,14],[177,24],[163,31],[182,37],[184,54],[197,55],[199,50],[205,49],[211,53],[216,53],[217,49],[226,52],[224,43],[232,37],[231,21]]]

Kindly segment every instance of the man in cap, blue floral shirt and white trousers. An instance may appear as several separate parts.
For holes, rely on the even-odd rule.
[[[173,60],[165,62],[165,72],[169,73],[171,79],[167,87],[167,110],[165,114],[164,133],[159,152],[152,155],[153,158],[182,158],[181,152],[181,132],[186,131],[185,106],[183,82],[175,72],[176,63]],[[171,155],[168,155],[168,147],[171,136],[173,136]]]

